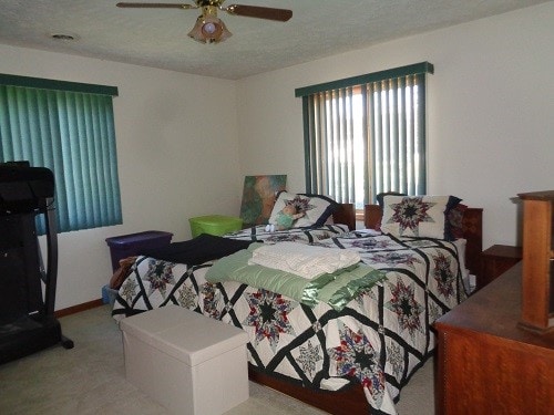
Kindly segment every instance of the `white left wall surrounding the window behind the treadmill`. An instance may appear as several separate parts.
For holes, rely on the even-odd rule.
[[[235,82],[6,45],[0,73],[119,87],[123,225],[59,235],[57,310],[100,298],[105,238],[157,229],[184,240],[189,217],[238,214]]]

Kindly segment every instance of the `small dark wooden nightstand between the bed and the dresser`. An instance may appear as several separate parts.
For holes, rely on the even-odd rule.
[[[481,253],[481,269],[476,276],[476,290],[501,276],[522,260],[522,247],[493,245]]]

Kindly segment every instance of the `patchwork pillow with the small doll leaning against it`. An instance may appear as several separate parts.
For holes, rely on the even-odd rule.
[[[294,222],[295,228],[324,226],[326,220],[338,209],[339,205],[322,195],[291,194],[280,191],[269,217],[269,224],[277,225],[277,214],[286,206],[293,205],[298,212],[305,215]]]

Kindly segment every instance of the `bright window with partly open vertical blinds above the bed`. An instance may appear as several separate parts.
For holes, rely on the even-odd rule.
[[[296,90],[306,187],[357,210],[382,191],[425,194],[428,63]]]

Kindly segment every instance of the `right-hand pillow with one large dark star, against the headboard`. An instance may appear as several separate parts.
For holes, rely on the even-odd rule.
[[[455,196],[384,196],[381,231],[394,237],[449,239],[447,217]]]

